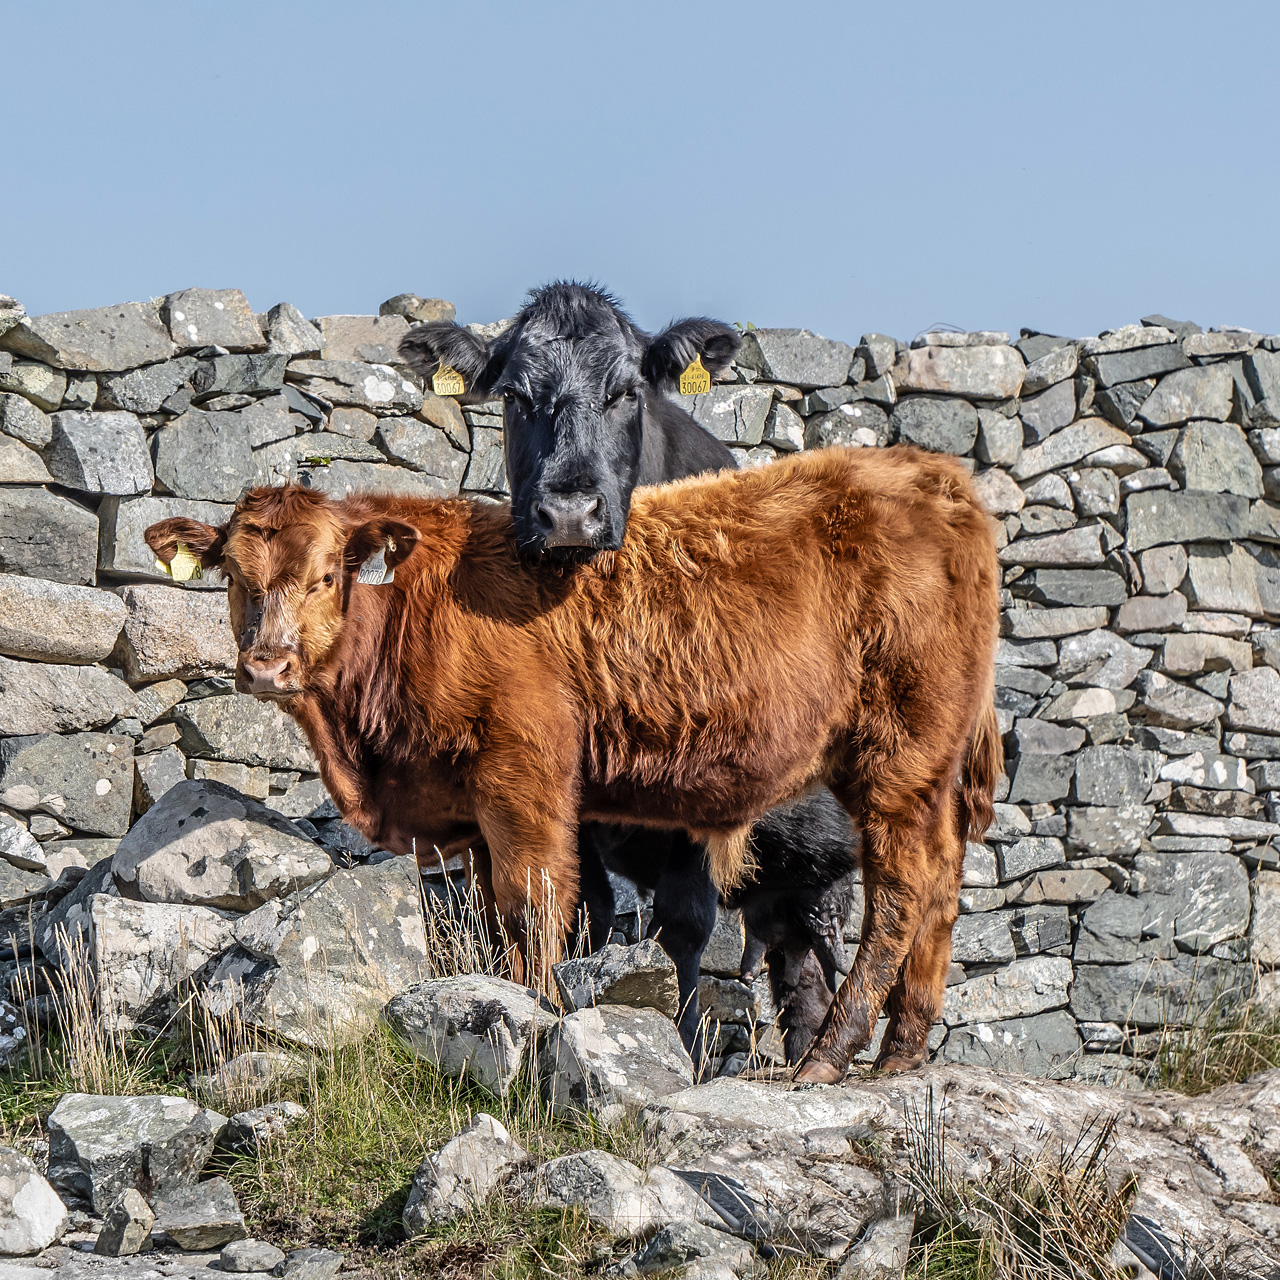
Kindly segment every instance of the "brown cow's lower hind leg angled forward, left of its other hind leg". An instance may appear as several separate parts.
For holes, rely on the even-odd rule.
[[[868,815],[863,831],[863,941],[854,968],[836,992],[823,1033],[796,1073],[800,1083],[833,1084],[870,1043],[876,1019],[920,923],[923,833],[895,831],[879,815]]]

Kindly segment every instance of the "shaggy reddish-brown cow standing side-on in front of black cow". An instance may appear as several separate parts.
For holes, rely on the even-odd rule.
[[[686,828],[728,888],[767,809],[827,783],[864,832],[861,946],[801,1079],[925,1052],[968,835],[991,819],[997,563],[964,470],[804,453],[639,490],[621,550],[521,562],[507,507],[255,489],[152,525],[229,577],[237,687],[275,699],[346,819],[388,849],[483,835],[521,937],[579,817]],[[389,585],[357,582],[381,552]],[[535,902],[539,909],[541,904]]]

